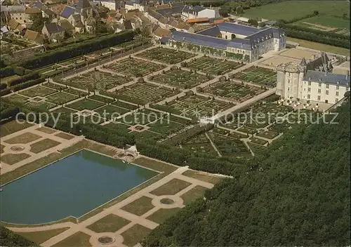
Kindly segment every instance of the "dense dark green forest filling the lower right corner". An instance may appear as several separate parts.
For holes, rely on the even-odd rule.
[[[350,246],[350,101],[338,124],[294,126],[143,246]]]

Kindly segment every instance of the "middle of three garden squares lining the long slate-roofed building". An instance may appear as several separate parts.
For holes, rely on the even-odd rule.
[[[184,64],[183,64],[184,65]],[[182,65],[182,66],[183,66]],[[237,69],[242,65],[239,62],[232,62],[218,58],[201,57],[190,62],[186,62],[185,67],[199,70],[206,74],[220,75]]]

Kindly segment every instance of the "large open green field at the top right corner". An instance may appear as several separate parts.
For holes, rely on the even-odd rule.
[[[319,11],[319,14],[340,16],[344,13],[350,17],[350,2],[348,1],[284,1],[250,8],[244,11],[246,18],[265,18],[268,20],[293,20]]]

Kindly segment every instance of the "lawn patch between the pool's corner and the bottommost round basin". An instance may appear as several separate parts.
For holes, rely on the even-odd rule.
[[[91,229],[94,232],[117,232],[119,229],[128,225],[131,222],[125,218],[121,218],[117,215],[110,214],[104,218],[98,220],[97,222],[88,225],[88,229]]]

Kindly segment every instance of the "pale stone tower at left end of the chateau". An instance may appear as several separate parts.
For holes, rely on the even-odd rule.
[[[300,65],[287,62],[277,66],[277,95],[284,99],[301,98],[303,91],[303,76],[307,63],[301,60]]]

